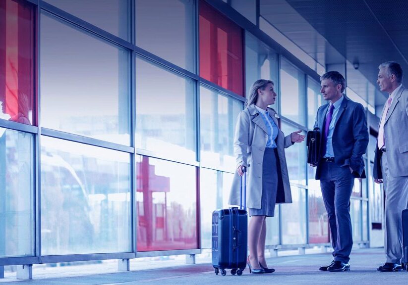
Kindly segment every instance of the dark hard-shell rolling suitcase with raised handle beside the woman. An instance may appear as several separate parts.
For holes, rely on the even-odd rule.
[[[246,267],[248,214],[246,208],[246,168],[241,176],[240,205],[228,209],[215,210],[212,219],[212,263],[215,274],[242,275]],[[242,183],[244,178],[244,183]],[[242,184],[244,185],[244,206],[242,207]]]

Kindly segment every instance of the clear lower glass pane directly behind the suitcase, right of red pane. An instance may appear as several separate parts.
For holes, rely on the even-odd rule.
[[[212,213],[228,208],[233,174],[200,168],[201,248],[211,248]]]

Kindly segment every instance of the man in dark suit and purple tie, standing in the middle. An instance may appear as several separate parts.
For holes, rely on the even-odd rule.
[[[354,178],[365,178],[362,155],[368,144],[364,108],[343,95],[345,79],[337,71],[321,78],[323,99],[329,103],[317,110],[314,127],[320,129],[320,160],[316,180],[320,180],[323,201],[329,218],[334,260],[321,271],[349,271],[353,244],[350,196]]]

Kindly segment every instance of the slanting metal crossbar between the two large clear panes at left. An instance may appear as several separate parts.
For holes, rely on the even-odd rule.
[[[94,139],[90,137],[84,137],[81,135],[65,133],[62,131],[52,130],[48,128],[41,128],[41,134],[47,137],[62,139],[62,140],[71,141],[71,142],[80,142],[84,144],[109,148],[109,149],[128,152],[128,153],[134,152],[134,147],[131,147],[131,146],[126,146],[126,145],[118,144],[115,142],[102,141],[102,140],[98,140],[98,139]]]

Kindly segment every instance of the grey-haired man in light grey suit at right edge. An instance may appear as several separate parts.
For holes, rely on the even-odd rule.
[[[403,258],[401,213],[408,204],[408,90],[402,85],[403,70],[393,61],[378,67],[377,84],[387,92],[378,129],[374,157],[374,181],[384,183],[385,255],[381,272],[400,271]]]

